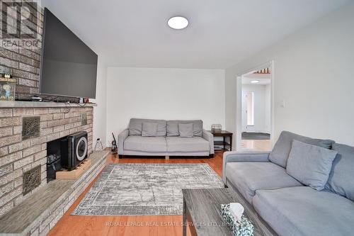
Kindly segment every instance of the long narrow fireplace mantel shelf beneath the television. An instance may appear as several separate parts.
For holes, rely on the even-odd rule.
[[[57,103],[54,101],[0,101],[0,108],[90,107],[96,103]]]

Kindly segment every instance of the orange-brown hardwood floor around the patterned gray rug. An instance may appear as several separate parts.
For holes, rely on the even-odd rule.
[[[222,151],[217,151],[210,159],[150,159],[123,158],[118,159],[110,154],[110,163],[207,163],[212,169],[222,175]],[[96,178],[97,179],[97,178]],[[79,196],[71,208],[67,210],[57,225],[50,230],[50,236],[55,235],[182,235],[182,215],[70,215],[74,208],[84,198],[96,179]],[[190,235],[189,230],[187,235]]]

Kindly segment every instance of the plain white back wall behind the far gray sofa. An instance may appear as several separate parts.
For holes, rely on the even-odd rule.
[[[201,119],[224,127],[224,70],[108,67],[108,133],[130,118]],[[110,135],[108,136],[110,142]]]

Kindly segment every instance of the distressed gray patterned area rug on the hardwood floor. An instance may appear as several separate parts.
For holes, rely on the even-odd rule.
[[[182,215],[182,189],[221,189],[208,164],[110,164],[72,215]]]

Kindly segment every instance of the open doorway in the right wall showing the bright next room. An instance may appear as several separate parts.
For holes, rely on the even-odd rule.
[[[238,79],[236,150],[270,151],[273,134],[273,62]]]

